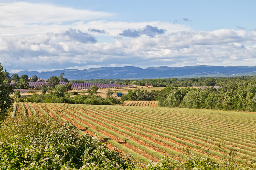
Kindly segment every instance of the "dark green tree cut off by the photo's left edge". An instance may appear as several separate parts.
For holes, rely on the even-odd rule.
[[[0,120],[7,116],[7,110],[12,106],[13,98],[9,95],[14,92],[14,86],[10,85],[9,73],[0,63]]]

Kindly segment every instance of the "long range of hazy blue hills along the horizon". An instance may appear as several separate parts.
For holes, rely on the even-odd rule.
[[[78,79],[146,79],[146,78],[182,78],[182,77],[227,77],[241,75],[256,75],[255,67],[243,66],[186,66],[186,67],[149,67],[142,69],[139,67],[101,67],[85,70],[64,69],[54,71],[21,71],[17,73],[19,76],[23,74],[31,77],[37,75],[38,78],[49,79],[51,76],[60,73],[65,74],[68,80]],[[12,74],[11,74],[12,75]]]

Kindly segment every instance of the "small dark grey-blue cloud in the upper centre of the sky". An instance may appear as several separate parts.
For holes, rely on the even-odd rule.
[[[123,30],[122,33],[120,33],[119,35],[125,36],[125,37],[139,37],[143,34],[150,36],[150,37],[154,37],[156,34],[163,34],[166,30],[164,29],[158,29],[157,27],[152,27],[150,25],[146,25],[146,27],[144,29],[138,29],[138,30]]]

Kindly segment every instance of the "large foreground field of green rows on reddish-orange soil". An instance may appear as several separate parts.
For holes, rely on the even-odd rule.
[[[98,133],[112,148],[141,162],[174,159],[187,147],[194,153],[222,158],[218,144],[236,150],[240,163],[256,157],[256,114],[161,107],[103,106],[52,103],[18,103],[28,116],[60,117],[79,133]],[[12,113],[15,116],[15,111]],[[110,146],[110,145],[109,145]],[[111,147],[110,147],[111,148]]]

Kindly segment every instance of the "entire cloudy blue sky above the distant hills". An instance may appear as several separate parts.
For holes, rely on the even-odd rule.
[[[256,1],[0,0],[0,63],[22,70],[256,66]]]

